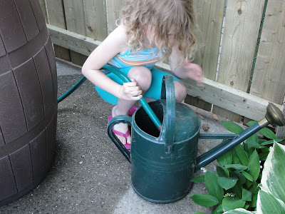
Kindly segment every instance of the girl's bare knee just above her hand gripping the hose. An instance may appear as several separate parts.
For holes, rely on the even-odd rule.
[[[137,66],[130,68],[128,78],[134,78],[142,91],[147,91],[147,89],[150,88],[152,74],[150,69],[143,66]]]

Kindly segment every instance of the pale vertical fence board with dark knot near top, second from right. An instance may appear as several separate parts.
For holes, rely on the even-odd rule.
[[[247,91],[263,8],[264,1],[260,0],[227,1],[219,83]],[[240,121],[241,118],[216,106],[213,113],[232,121]]]

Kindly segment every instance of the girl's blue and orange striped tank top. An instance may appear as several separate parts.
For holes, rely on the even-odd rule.
[[[162,56],[162,54],[157,51],[157,48],[142,49],[136,53],[131,53],[131,49],[129,49],[125,54],[117,54],[114,56],[108,64],[116,68],[145,66],[151,69],[155,66],[155,63],[160,60],[160,56]]]

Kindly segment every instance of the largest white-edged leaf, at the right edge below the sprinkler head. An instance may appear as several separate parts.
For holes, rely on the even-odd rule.
[[[262,171],[261,190],[285,203],[285,146],[274,143]]]

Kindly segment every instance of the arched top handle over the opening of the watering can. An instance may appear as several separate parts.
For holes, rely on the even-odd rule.
[[[165,75],[162,79],[161,99],[166,100],[160,141],[165,142],[165,153],[171,153],[175,135],[175,88],[173,77]]]

